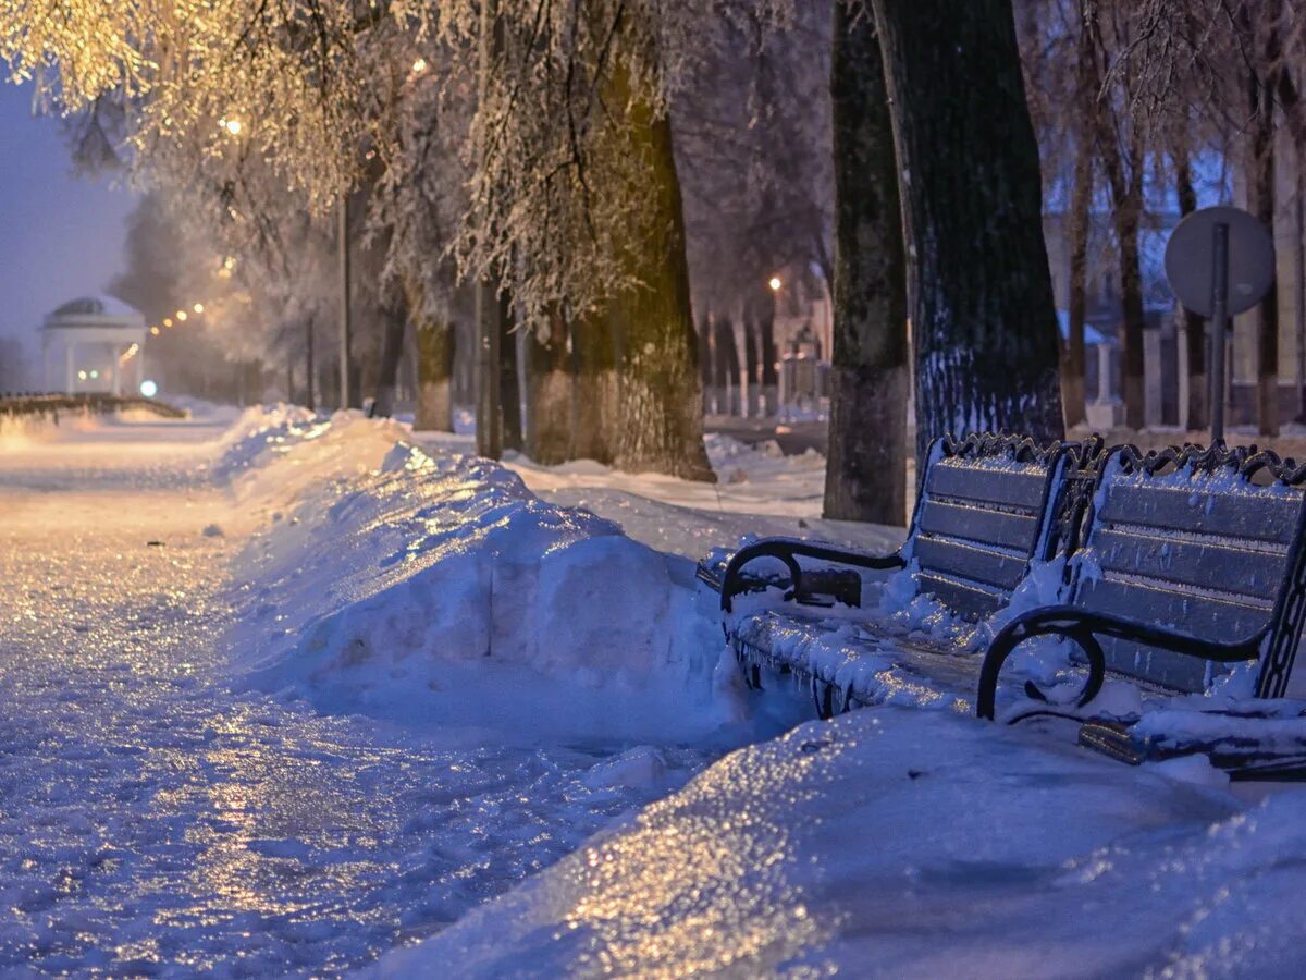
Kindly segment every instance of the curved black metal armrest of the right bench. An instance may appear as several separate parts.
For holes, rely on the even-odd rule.
[[[1077,606],[1032,609],[1007,623],[989,645],[983,668],[980,670],[980,691],[976,698],[976,715],[978,717],[993,720],[998,674],[1002,672],[1002,665],[1016,647],[1034,636],[1060,636],[1076,643],[1084,651],[1088,657],[1088,682],[1079,698],[1079,707],[1084,707],[1097,696],[1106,676],[1106,657],[1097,642],[1098,636],[1134,640],[1200,660],[1235,664],[1242,660],[1256,660],[1260,656],[1263,634],[1233,643],[1216,643],[1166,630],[1155,623],[1127,619],[1110,613],[1091,612]],[[1025,689],[1032,696],[1042,698],[1042,693],[1032,682],[1027,683]]]

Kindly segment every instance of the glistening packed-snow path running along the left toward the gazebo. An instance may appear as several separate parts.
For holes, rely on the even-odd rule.
[[[342,971],[658,789],[596,780],[613,746],[438,743],[234,693],[251,528],[206,478],[219,431],[0,446],[0,973]]]

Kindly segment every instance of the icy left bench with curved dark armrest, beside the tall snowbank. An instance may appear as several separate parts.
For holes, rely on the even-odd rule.
[[[983,619],[1011,602],[1033,564],[1068,546],[1100,453],[1096,436],[1051,446],[987,434],[961,440],[944,436],[934,443],[922,469],[912,527],[897,553],[872,555],[797,538],[765,538],[741,547],[725,567],[721,561],[700,563],[699,578],[721,592],[726,639],[746,682],[760,686],[764,668],[791,674],[810,685],[823,717],[878,703],[884,686],[876,672],[849,678],[841,670],[846,660],[812,656],[823,638],[850,622],[849,610],[840,615],[833,606],[861,605],[863,580],[857,570],[910,567],[918,593],[932,596],[964,621]],[[759,574],[759,559],[773,559],[772,566],[778,561],[785,572]],[[741,596],[786,585],[778,608],[765,602],[767,608],[735,613]],[[891,635],[870,612],[857,613],[852,622],[859,634],[855,645],[887,653],[908,669],[922,664],[921,656],[947,652],[929,639]],[[947,660],[965,661],[952,679],[973,687],[974,657],[932,656],[927,673],[948,674]]]

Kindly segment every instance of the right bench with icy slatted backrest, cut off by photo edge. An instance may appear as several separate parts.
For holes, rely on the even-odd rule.
[[[1204,751],[1229,768],[1294,753],[1306,764],[1303,706],[1275,700],[1290,693],[1306,618],[1303,483],[1306,465],[1254,448],[1113,449],[1067,566],[1064,605],[1025,612],[998,632],[977,713],[994,717],[1004,661],[1036,636],[1070,640],[1087,660],[1079,708],[1106,674],[1135,679],[1144,695],[1200,694],[1246,664],[1249,690],[1091,720],[1080,742],[1134,763]],[[1033,683],[1025,694],[1043,699]],[[1258,721],[1239,724],[1249,717]]]

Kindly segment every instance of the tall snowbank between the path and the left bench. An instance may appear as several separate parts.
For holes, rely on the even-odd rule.
[[[246,413],[219,469],[270,531],[239,578],[249,683],[354,711],[528,737],[675,742],[729,715],[692,564],[431,456],[357,414]]]

